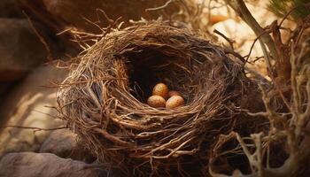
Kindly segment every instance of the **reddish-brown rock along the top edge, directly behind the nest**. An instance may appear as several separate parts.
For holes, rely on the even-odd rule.
[[[107,27],[110,19],[124,21],[123,26],[128,26],[129,19],[157,19],[164,14],[169,16],[174,12],[179,12],[179,8],[173,3],[168,4],[162,11],[146,12],[145,9],[159,7],[167,0],[19,0],[23,8],[36,19],[40,19],[44,24],[54,28],[57,32],[63,31],[66,27],[77,27],[91,33],[101,33],[100,29],[89,23],[86,19],[98,22],[102,27]],[[42,5],[43,4],[43,5]],[[37,8],[38,5],[42,5]]]

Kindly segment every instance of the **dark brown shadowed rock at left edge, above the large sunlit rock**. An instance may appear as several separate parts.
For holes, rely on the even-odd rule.
[[[27,19],[0,18],[0,81],[18,80],[45,59],[43,43]]]

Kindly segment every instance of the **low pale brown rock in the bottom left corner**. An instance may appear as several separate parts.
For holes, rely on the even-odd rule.
[[[108,176],[108,173],[98,165],[58,158],[50,153],[21,152],[6,154],[1,159],[0,176],[97,177]]]

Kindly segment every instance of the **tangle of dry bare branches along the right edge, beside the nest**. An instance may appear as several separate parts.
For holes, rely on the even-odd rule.
[[[306,27],[308,19],[306,19],[300,28]],[[298,30],[301,35],[304,30]],[[300,36],[297,35],[297,36]],[[298,38],[298,37],[297,37]],[[307,39],[308,40],[308,39]],[[219,141],[216,150],[213,152],[211,158],[211,165],[209,168],[213,176],[252,176],[252,177],[289,177],[301,175],[304,169],[309,165],[310,160],[310,135],[308,128],[310,127],[310,65],[309,65],[309,43],[300,42],[299,40],[292,39],[290,53],[291,60],[291,80],[288,91],[291,94],[286,94],[284,99],[291,100],[288,104],[288,109],[277,110],[273,101],[277,100],[279,92],[277,89],[266,90],[260,87],[263,93],[263,101],[265,104],[266,112],[249,113],[253,116],[262,116],[268,119],[269,128],[267,134],[252,134],[251,137],[241,137],[237,133],[232,133],[226,139]],[[277,94],[275,94],[277,93]],[[284,103],[284,100],[282,100]],[[236,149],[221,152],[221,146],[225,142],[236,139],[240,146]],[[252,142],[249,143],[249,139]],[[247,142],[245,142],[246,140]],[[275,146],[276,143],[280,146]],[[221,158],[222,154],[240,153],[242,150],[249,161],[251,166],[250,174],[243,174],[240,171],[232,175],[221,174],[216,171],[216,166],[213,165],[216,158]],[[269,154],[269,150],[283,151],[288,153],[288,158],[276,158]],[[267,153],[262,153],[266,151]],[[262,163],[261,159],[267,161]],[[273,162],[281,163],[279,167],[270,165]]]

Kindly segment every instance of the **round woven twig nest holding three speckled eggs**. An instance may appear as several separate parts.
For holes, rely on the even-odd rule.
[[[79,58],[59,89],[60,111],[99,161],[124,173],[201,175],[216,138],[243,123],[236,108],[252,81],[221,47],[186,27],[151,22],[114,31]],[[145,104],[158,82],[186,104]]]

